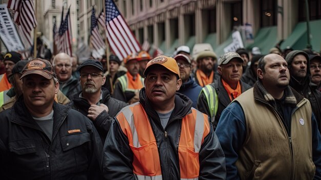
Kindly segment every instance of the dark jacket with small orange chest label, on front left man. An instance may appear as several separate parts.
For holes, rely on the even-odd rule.
[[[102,142],[92,122],[53,104],[52,141],[34,121],[23,97],[0,112],[1,179],[97,179]]]

